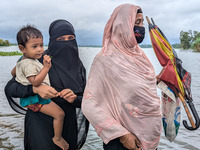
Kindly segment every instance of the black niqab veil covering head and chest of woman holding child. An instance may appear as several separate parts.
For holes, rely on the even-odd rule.
[[[69,88],[76,94],[83,92],[85,68],[79,59],[76,40],[56,40],[63,35],[75,36],[73,26],[66,20],[56,20],[50,25],[49,35],[48,54],[52,57],[52,66],[62,81],[62,85],[58,86]],[[53,82],[58,83],[55,79]]]

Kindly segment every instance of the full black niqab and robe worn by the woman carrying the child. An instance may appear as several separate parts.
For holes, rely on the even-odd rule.
[[[62,136],[68,142],[69,150],[80,149],[86,140],[89,126],[80,109],[86,84],[85,68],[79,58],[76,39],[58,40],[59,37],[65,35],[75,37],[74,28],[68,21],[54,21],[49,27],[49,35],[50,41],[45,54],[52,57],[52,67],[49,70],[51,86],[58,92],[70,89],[77,95],[73,103],[69,103],[61,97],[52,98],[52,100],[65,112]],[[40,61],[42,62],[42,60]],[[23,91],[21,91],[21,85],[17,86],[16,81],[13,82],[10,81],[7,84],[5,92],[11,107],[15,108],[15,111],[21,112],[19,106],[14,107],[17,103],[11,96],[17,97],[19,93],[27,96],[28,89],[23,87]],[[40,112],[27,110],[24,133],[25,150],[59,150],[60,148],[52,142],[53,131],[53,118]]]

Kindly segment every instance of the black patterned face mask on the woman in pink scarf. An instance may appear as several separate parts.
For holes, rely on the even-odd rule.
[[[134,26],[134,33],[137,43],[142,43],[145,36],[145,28],[140,26]]]

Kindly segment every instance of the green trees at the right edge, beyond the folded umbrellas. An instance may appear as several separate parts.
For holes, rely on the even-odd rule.
[[[194,49],[200,51],[200,32],[198,31],[181,31],[180,45],[183,49]]]

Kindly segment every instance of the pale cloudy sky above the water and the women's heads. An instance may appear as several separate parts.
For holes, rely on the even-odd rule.
[[[0,39],[16,43],[17,31],[33,24],[48,43],[48,28],[56,19],[70,21],[79,45],[101,45],[105,24],[114,8],[131,3],[153,17],[171,43],[179,43],[180,31],[200,32],[199,0],[0,0]],[[144,44],[150,44],[145,20]]]

